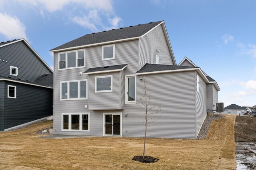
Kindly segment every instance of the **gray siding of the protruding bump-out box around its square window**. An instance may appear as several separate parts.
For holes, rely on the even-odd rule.
[[[97,76],[112,76],[113,87],[112,92],[95,92],[95,77]],[[89,109],[91,110],[106,110],[106,109],[124,109],[124,104],[121,107],[120,98],[124,98],[124,89],[121,90],[120,72],[110,72],[104,74],[91,74],[89,75]],[[124,83],[124,82],[123,82]],[[122,91],[122,95],[121,95]]]

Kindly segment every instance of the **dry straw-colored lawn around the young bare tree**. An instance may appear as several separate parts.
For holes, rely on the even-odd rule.
[[[132,160],[142,154],[142,138],[38,138],[49,121],[0,133],[0,169],[235,169],[234,123],[234,115],[217,119],[202,140],[147,139],[146,155],[160,160],[144,164]]]

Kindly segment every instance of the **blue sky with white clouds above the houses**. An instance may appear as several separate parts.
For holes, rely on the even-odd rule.
[[[164,20],[177,64],[188,57],[220,86],[224,106],[256,105],[255,0],[0,0],[0,42],[49,51],[88,33]]]

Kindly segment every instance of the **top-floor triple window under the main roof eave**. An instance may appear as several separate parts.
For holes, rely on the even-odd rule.
[[[59,69],[85,67],[85,49],[59,53]]]

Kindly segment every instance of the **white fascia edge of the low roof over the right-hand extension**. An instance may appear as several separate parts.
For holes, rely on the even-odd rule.
[[[152,72],[139,72],[136,73],[136,75],[145,75],[145,74],[161,74],[161,73],[168,73],[168,72],[184,72],[184,71],[196,71],[202,79],[207,83],[207,84],[213,84],[214,87],[220,91],[220,87],[218,86],[217,82],[210,82],[207,77],[205,76],[204,72],[201,70],[200,67],[197,68],[185,68],[185,69],[176,69],[176,70],[162,70],[162,71],[152,71]]]

